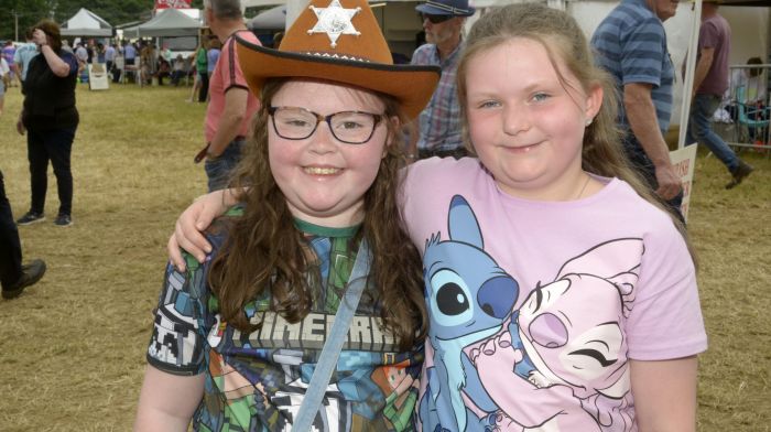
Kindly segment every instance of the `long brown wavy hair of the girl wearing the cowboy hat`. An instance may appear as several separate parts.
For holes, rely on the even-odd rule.
[[[239,194],[243,215],[227,223],[227,239],[208,273],[219,313],[242,332],[260,327],[261,323],[249,322],[243,306],[264,290],[270,290],[272,310],[291,323],[303,320],[317,296],[311,291],[308,277],[321,279],[321,274],[308,274],[312,267],[302,251],[303,236],[294,226],[268,160],[268,108],[287,80],[270,79],[262,88],[254,132],[230,184],[243,191]],[[402,119],[393,97],[376,96],[384,102],[387,118]],[[398,122],[387,123],[391,144],[386,147],[378,175],[365,193],[365,218],[358,236],[367,238],[372,252],[368,282],[377,287],[376,302],[384,330],[393,334],[402,349],[409,349],[425,336],[427,318],[421,258],[406,235],[400,210],[400,168],[405,163],[400,129]]]

